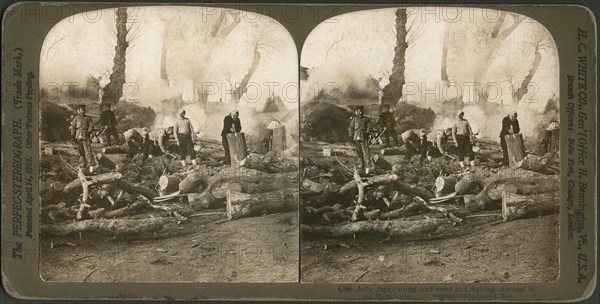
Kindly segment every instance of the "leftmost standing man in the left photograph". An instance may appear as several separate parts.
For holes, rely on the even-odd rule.
[[[79,105],[77,107],[77,115],[71,122],[71,139],[77,145],[80,168],[85,168],[89,165],[90,173],[94,171],[94,167],[96,166],[96,159],[90,145],[92,127],[92,118],[85,115],[85,105]]]

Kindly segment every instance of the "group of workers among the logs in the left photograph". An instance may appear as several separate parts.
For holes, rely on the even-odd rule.
[[[77,115],[73,118],[70,126],[71,139],[77,146],[80,167],[89,167],[89,172],[93,172],[98,166],[91,148],[91,144],[93,143],[92,140],[95,140],[92,139],[94,125],[101,127],[102,132],[98,134],[97,137],[105,134],[109,146],[112,144],[111,137],[114,138],[116,144],[120,144],[121,142],[117,132],[117,119],[110,104],[104,106],[104,110],[100,114],[100,119],[97,122],[94,122],[90,116],[86,115],[85,111],[85,105],[79,105],[77,107]],[[187,165],[188,157],[191,164],[196,165],[197,157],[194,149],[196,133],[192,122],[185,114],[186,111],[180,109],[178,111],[178,118],[173,125],[165,128],[150,130],[149,128],[144,127],[131,128],[125,131],[123,137],[127,143],[126,158],[132,160],[135,155],[141,153],[142,163],[145,163],[146,160],[153,155],[167,154],[169,153],[169,139],[173,137],[177,143],[181,165],[184,167]],[[223,150],[225,151],[223,164],[231,163],[227,134],[237,133],[241,130],[242,125],[239,119],[239,111],[233,110],[223,119],[223,130],[221,131]]]

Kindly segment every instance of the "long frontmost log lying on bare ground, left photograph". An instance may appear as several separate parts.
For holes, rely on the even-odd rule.
[[[140,235],[152,233],[163,228],[169,221],[162,218],[148,218],[143,220],[126,219],[93,219],[71,223],[45,224],[41,231],[44,235],[74,235],[81,232],[105,233],[110,235]]]

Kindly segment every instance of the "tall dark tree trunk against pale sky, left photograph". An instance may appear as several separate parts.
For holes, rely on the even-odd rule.
[[[125,59],[127,55],[127,8],[119,7],[116,11],[117,45],[115,46],[115,57],[113,59],[110,82],[103,88],[101,106],[105,104],[114,105],[123,96],[123,85],[125,84]]]

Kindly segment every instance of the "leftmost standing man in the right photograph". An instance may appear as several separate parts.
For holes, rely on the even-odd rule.
[[[356,107],[354,111],[356,115],[350,121],[348,135],[350,135],[350,140],[354,144],[356,154],[360,159],[359,169],[365,168],[365,172],[368,174],[372,166],[367,137],[371,132],[371,121],[363,116],[363,111],[363,106]]]

